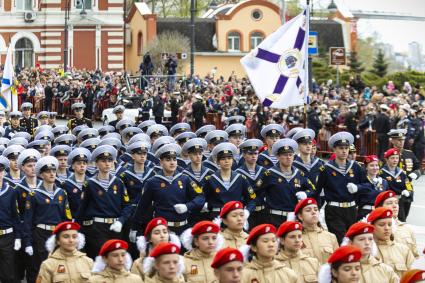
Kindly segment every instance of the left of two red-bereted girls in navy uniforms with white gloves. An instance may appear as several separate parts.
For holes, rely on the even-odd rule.
[[[379,177],[379,159],[376,155],[368,155],[364,159],[366,167],[365,179],[360,184],[349,183],[348,191],[357,196],[357,220],[363,219],[368,215],[373,207],[376,196],[388,190],[387,180]]]

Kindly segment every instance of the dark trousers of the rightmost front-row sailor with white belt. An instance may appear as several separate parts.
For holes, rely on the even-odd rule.
[[[335,234],[338,243],[341,243],[345,232],[356,222],[357,207],[338,207],[326,204],[325,221],[328,231]]]

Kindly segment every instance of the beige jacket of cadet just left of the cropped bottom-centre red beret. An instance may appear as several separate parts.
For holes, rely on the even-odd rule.
[[[215,279],[211,263],[213,254],[205,254],[199,249],[191,250],[184,254],[184,278],[190,283],[209,283]]]

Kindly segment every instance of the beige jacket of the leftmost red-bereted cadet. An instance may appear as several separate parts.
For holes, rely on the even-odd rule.
[[[87,282],[91,276],[92,267],[93,260],[86,254],[77,250],[72,253],[63,253],[57,249],[41,264],[37,283]]]

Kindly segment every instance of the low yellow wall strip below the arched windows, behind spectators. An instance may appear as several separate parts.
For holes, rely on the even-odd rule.
[[[217,67],[215,78],[223,76],[226,80],[235,71],[238,78],[246,77],[245,71],[242,68],[239,60],[241,55],[235,56],[208,56],[208,55],[195,55],[195,74],[201,77],[206,76],[211,72],[214,67]],[[186,74],[190,74],[190,62],[186,65]]]

